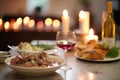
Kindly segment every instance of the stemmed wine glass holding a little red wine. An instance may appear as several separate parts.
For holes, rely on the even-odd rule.
[[[61,67],[61,69],[64,71],[72,69],[70,66],[67,65],[66,52],[67,50],[72,49],[75,46],[75,43],[76,43],[75,32],[73,31],[69,31],[69,32],[58,31],[57,32],[56,44],[59,48],[64,50],[64,58],[66,59],[65,65]]]

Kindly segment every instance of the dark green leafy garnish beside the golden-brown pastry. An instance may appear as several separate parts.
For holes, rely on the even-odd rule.
[[[108,58],[115,58],[119,55],[119,49],[117,47],[112,47],[110,51],[107,53],[106,57]]]

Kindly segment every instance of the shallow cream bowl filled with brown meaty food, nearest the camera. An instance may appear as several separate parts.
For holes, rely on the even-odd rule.
[[[22,57],[12,56],[5,63],[18,74],[27,76],[45,76],[54,73],[65,64],[65,59],[46,53],[28,54]]]

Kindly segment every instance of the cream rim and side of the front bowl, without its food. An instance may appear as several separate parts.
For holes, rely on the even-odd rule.
[[[49,55],[51,58],[56,59],[56,61],[61,62],[59,65],[55,65],[52,67],[47,67],[47,68],[42,68],[42,67],[21,67],[21,66],[14,66],[11,65],[11,59],[14,58],[15,56],[9,57],[5,60],[5,63],[18,72],[19,74],[22,75],[27,75],[27,76],[44,76],[44,75],[49,75],[55,72],[55,70],[59,69],[61,66],[65,64],[65,59],[60,58],[58,56],[52,56]]]

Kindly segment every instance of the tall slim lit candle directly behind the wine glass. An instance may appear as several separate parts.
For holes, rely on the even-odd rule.
[[[68,16],[68,11],[64,10],[63,16],[62,16],[62,30],[63,30],[63,32],[65,32],[65,33],[69,32],[69,27],[70,27],[70,17]]]

